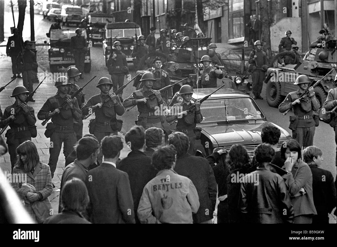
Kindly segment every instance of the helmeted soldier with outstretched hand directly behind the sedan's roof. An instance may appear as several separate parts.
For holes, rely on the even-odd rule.
[[[198,78],[199,87],[202,88],[217,87],[217,78],[218,79],[223,78],[222,70],[210,67],[212,59],[208,55],[204,55],[200,61],[203,63],[204,69],[200,71],[200,76]]]

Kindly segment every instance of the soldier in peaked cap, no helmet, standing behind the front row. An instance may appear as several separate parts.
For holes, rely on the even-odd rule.
[[[151,72],[154,74],[156,78],[156,82],[153,83],[152,89],[160,90],[163,87],[171,85],[170,76],[168,75],[166,71],[161,69],[161,65],[162,65],[161,58],[158,56],[155,57],[152,60],[152,64],[153,64],[154,70]],[[143,83],[139,85],[139,88],[141,87],[143,87]],[[165,101],[166,104],[170,104],[171,99],[172,99],[172,87],[169,88],[165,92],[161,92],[161,97]]]

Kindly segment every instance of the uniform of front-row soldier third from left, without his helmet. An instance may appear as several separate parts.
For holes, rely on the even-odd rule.
[[[104,100],[109,97],[108,95],[103,95],[102,93],[92,96],[88,102],[82,108],[83,115],[89,114],[89,109],[98,103],[103,103],[101,108],[95,110],[95,127],[93,135],[96,136],[98,142],[100,143],[104,136],[109,136],[111,134],[117,135],[117,118],[124,114],[124,107],[122,102],[120,102],[119,97],[116,97],[116,102],[114,103],[111,99],[107,102]],[[102,153],[97,157],[99,163],[102,163]]]

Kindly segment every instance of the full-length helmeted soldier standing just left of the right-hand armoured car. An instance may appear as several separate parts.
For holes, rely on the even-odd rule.
[[[265,79],[265,71],[267,71],[267,55],[266,52],[262,50],[262,42],[256,40],[254,43],[255,50],[251,51],[249,54],[249,72],[252,74],[253,82],[253,98],[263,99],[261,97],[261,91],[263,87],[263,80]]]

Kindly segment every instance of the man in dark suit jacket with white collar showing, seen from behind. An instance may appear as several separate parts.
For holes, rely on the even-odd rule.
[[[122,149],[120,136],[105,136],[101,142],[104,161],[87,174],[87,211],[92,223],[135,223],[129,176],[116,168]]]

